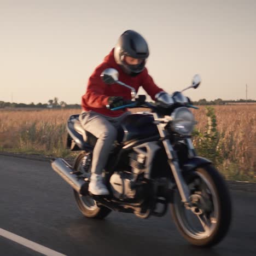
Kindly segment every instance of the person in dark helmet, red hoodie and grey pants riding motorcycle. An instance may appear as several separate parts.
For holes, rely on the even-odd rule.
[[[83,128],[97,138],[89,183],[89,191],[94,195],[109,194],[103,183],[102,171],[117,139],[118,126],[127,115],[131,114],[127,109],[112,111],[106,108],[107,105],[112,107],[124,105],[126,100],[131,100],[131,93],[124,86],[105,84],[100,75],[106,68],[115,68],[122,82],[131,85],[136,92],[139,86],[142,86],[155,100],[156,96],[166,92],[159,88],[148,74],[145,67],[148,56],[148,44],[141,34],[133,30],[125,31],[109,55],[92,73],[86,93],[82,96],[83,112],[79,120]]]

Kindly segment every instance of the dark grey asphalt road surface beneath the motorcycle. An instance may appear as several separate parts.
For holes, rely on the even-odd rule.
[[[216,247],[190,246],[170,213],[85,218],[50,163],[0,155],[0,228],[65,255],[256,255],[256,193],[231,190],[234,218]],[[0,236],[0,255],[42,255]]]

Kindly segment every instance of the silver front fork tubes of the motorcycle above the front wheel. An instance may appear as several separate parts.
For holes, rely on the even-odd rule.
[[[154,119],[156,121],[156,125],[158,126],[159,135],[162,138],[162,144],[164,144],[165,151],[168,158],[168,164],[171,167],[173,177],[175,179],[175,182],[177,184],[179,194],[181,195],[182,202],[184,203],[185,207],[190,207],[190,200],[189,200],[189,189],[187,184],[185,183],[181,168],[179,168],[179,162],[176,152],[173,150],[173,147],[169,141],[169,139],[166,139],[166,132],[163,127],[163,123],[159,121],[159,117],[157,113],[153,113]],[[189,157],[195,156],[195,149],[193,147],[193,144],[191,142],[191,139],[187,139],[187,144],[189,148]]]

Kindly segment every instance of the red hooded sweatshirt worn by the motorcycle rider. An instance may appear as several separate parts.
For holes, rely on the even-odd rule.
[[[119,80],[127,85],[132,86],[136,92],[138,92],[139,86],[150,95],[154,100],[155,95],[163,91],[153,81],[152,77],[148,74],[147,68],[145,68],[136,77],[123,72],[121,67],[115,62],[114,49],[110,51],[109,55],[104,58],[103,63],[96,67],[94,73],[89,78],[87,90],[82,97],[82,108],[85,111],[93,110],[97,113],[108,115],[109,117],[118,117],[123,114],[124,110],[109,110],[106,108],[108,104],[108,97],[110,96],[122,96],[124,100],[131,100],[131,91],[119,84],[105,84],[101,80],[101,73],[106,68],[115,68],[119,72]]]

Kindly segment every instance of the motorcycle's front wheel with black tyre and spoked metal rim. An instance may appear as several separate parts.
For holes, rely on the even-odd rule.
[[[181,234],[196,246],[213,246],[222,241],[231,223],[231,200],[222,176],[212,165],[187,174],[190,209],[185,208],[178,190],[171,212]]]

